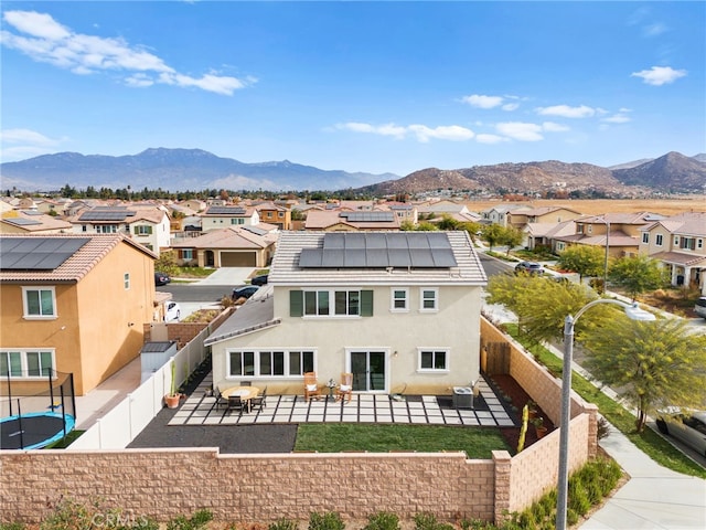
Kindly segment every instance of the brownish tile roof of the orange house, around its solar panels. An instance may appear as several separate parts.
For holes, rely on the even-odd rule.
[[[76,251],[68,259],[53,271],[1,271],[0,283],[17,284],[25,282],[36,282],[44,284],[71,284],[77,283],[85,277],[105,256],[107,256],[120,243],[126,243],[142,252],[151,258],[157,258],[152,252],[132,242],[122,234],[96,234],[86,236],[85,234],[3,234],[0,237],[63,237],[63,239],[88,239],[88,243]]]

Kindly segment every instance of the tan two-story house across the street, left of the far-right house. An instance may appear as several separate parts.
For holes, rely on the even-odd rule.
[[[634,256],[640,246],[641,229],[662,215],[651,212],[606,213],[577,219],[576,232],[554,239],[557,253],[573,245],[600,246],[610,257]]]

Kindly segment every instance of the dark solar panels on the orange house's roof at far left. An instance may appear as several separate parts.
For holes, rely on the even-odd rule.
[[[89,237],[0,237],[0,268],[53,271],[89,241]]]

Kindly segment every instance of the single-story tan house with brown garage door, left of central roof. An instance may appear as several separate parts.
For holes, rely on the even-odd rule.
[[[179,265],[200,267],[266,267],[275,253],[277,227],[231,226],[197,237],[174,240]]]

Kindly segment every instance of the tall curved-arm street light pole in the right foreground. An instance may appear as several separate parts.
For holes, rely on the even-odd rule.
[[[556,528],[566,530],[566,509],[569,489],[569,421],[571,406],[571,360],[574,358],[574,326],[587,309],[599,304],[614,304],[621,306],[625,315],[632,320],[650,321],[655,320],[655,316],[644,309],[640,309],[638,304],[627,304],[612,298],[599,298],[589,301],[581,307],[575,317],[568,315],[564,319],[564,362],[561,365],[561,415],[559,423],[559,477],[557,481],[556,498]]]

